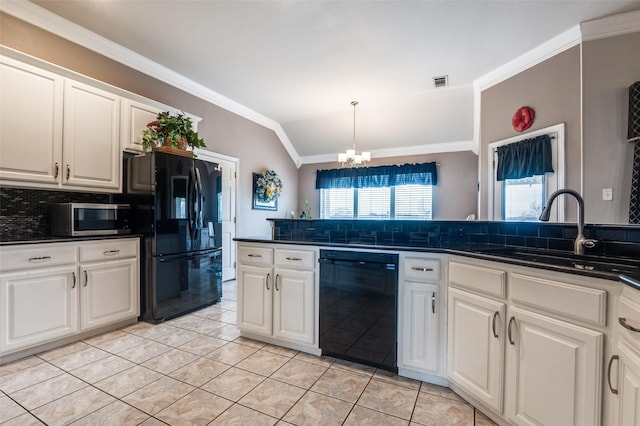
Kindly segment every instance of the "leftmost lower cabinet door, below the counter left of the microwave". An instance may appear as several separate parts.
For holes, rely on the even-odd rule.
[[[0,275],[0,352],[74,334],[77,289],[75,265]]]

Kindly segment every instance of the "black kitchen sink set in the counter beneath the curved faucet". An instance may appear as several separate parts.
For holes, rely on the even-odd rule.
[[[640,261],[606,256],[573,254],[562,251],[500,247],[480,249],[478,253],[523,262],[534,262],[585,271],[610,272],[617,274],[640,274]]]

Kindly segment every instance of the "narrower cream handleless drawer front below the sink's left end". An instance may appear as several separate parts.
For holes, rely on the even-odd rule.
[[[505,272],[464,263],[449,263],[449,282],[484,294],[506,297]]]

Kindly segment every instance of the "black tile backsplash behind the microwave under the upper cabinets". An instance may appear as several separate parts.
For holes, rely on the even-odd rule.
[[[0,187],[0,241],[48,238],[51,228],[49,204],[107,203],[107,194],[42,191]]]

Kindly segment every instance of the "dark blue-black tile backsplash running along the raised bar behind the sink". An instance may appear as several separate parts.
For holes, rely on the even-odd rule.
[[[572,251],[571,223],[270,219],[274,240],[429,248],[481,245]],[[640,226],[587,225],[594,255],[640,258]]]

